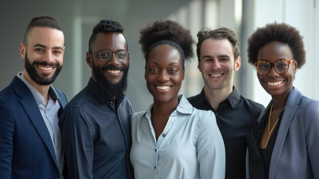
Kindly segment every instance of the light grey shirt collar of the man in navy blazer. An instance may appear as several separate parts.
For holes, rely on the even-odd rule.
[[[18,72],[17,74],[18,78],[30,89],[31,93],[33,94],[33,97],[36,100],[37,105],[44,103],[44,97],[28,82],[23,76],[23,71]],[[59,99],[59,96],[56,92],[56,90],[50,85],[49,91],[49,100],[53,100],[54,104],[56,104],[57,100]]]

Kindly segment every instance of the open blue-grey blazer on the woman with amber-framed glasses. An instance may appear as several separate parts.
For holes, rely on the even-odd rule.
[[[268,115],[272,101],[260,115],[254,129],[247,135],[251,178],[262,178],[256,168],[263,168],[258,151],[256,128]],[[274,145],[269,178],[319,178],[319,101],[308,98],[293,87],[281,118]],[[258,167],[259,166],[259,167]]]

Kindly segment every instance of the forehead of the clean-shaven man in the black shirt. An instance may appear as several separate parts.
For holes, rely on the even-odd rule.
[[[233,47],[227,39],[214,40],[208,38],[204,40],[200,47],[200,56],[233,56]]]

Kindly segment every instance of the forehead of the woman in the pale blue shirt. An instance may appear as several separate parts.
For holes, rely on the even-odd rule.
[[[158,45],[151,49],[147,62],[172,63],[181,62],[178,50],[171,45]]]

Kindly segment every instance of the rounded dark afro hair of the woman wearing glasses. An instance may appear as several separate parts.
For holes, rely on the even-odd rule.
[[[289,45],[294,58],[298,63],[298,68],[306,62],[306,52],[303,37],[300,32],[286,23],[268,23],[265,27],[257,30],[248,38],[248,62],[257,62],[257,55],[260,47],[272,41],[279,41]]]

